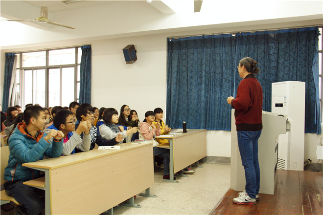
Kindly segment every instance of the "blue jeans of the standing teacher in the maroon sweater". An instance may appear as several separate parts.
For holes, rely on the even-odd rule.
[[[258,161],[258,139],[261,130],[258,131],[237,131],[238,146],[245,169],[246,193],[255,198],[260,188],[260,169]]]

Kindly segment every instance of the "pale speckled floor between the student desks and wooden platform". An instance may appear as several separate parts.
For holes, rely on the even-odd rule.
[[[162,179],[162,168],[155,168],[156,198],[137,196],[141,208],[119,205],[114,215],[208,215],[230,187],[230,165],[202,164],[189,177],[177,177],[180,183]]]

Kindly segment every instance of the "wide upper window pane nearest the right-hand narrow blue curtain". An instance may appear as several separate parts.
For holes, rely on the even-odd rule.
[[[48,65],[75,64],[75,48],[50,50]]]

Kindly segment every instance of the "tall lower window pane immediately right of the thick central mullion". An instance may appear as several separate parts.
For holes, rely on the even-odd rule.
[[[48,107],[60,106],[60,69],[48,69]]]

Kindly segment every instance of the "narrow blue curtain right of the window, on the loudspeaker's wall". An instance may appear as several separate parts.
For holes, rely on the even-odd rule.
[[[79,103],[91,104],[91,64],[92,49],[91,45],[81,46],[81,71],[80,71],[80,97]]]

